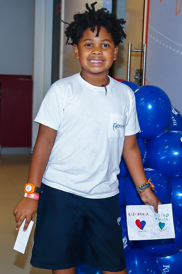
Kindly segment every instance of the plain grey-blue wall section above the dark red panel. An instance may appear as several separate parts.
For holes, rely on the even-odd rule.
[[[0,1],[0,74],[32,75],[33,0]]]

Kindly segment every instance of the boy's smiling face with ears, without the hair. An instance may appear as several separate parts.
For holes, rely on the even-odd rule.
[[[78,41],[78,46],[73,45],[75,58],[79,59],[82,66],[82,73],[97,74],[107,72],[114,60],[117,59],[118,46],[114,46],[114,41],[110,33],[101,27],[99,36],[95,37],[95,32],[87,29]]]

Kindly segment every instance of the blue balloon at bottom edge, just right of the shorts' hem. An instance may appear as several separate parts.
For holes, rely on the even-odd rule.
[[[130,248],[126,256],[126,268],[132,274],[161,274],[156,258],[142,248]]]

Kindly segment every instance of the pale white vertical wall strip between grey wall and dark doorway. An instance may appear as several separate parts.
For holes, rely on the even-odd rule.
[[[33,120],[51,85],[53,0],[35,0],[34,18],[32,148],[38,132]]]

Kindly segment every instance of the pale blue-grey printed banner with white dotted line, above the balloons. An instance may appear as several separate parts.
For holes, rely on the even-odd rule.
[[[145,85],[164,90],[182,111],[182,0],[154,0],[149,6]]]

